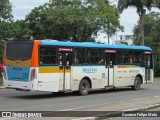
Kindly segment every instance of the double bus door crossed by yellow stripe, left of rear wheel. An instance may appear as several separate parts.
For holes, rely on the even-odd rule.
[[[60,90],[71,89],[72,48],[59,48]]]

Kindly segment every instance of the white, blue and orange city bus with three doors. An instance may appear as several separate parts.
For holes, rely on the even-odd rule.
[[[147,46],[57,40],[12,40],[4,50],[3,86],[24,91],[74,92],[152,83],[154,62]]]

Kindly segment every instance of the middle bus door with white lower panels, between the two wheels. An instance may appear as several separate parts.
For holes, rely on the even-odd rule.
[[[115,50],[105,50],[106,55],[106,70],[107,70],[107,86],[114,84],[114,64],[115,64]]]

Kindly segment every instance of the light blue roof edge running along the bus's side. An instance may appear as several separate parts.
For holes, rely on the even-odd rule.
[[[91,48],[109,48],[109,49],[135,49],[135,50],[149,50],[147,46],[129,46],[129,45],[110,45],[110,44],[97,44],[94,42],[61,42],[57,40],[41,40],[42,45],[55,45],[65,47],[91,47]]]

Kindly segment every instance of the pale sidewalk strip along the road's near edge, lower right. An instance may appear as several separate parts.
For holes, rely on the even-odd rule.
[[[160,96],[153,96],[128,101],[119,101],[116,103],[95,105],[92,107],[74,110],[50,112],[44,114],[44,117],[42,119],[38,118],[34,120],[108,120],[108,118],[110,117],[122,116],[122,114],[127,112],[131,114],[136,111],[141,113],[142,111],[152,110],[157,107],[160,107]]]

